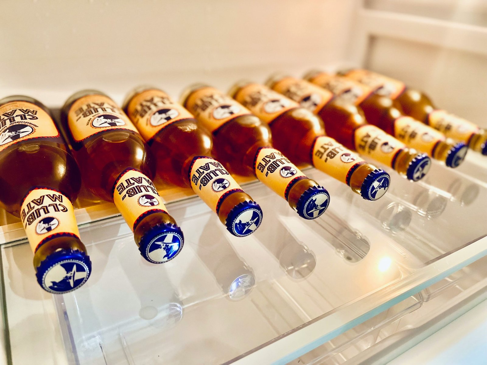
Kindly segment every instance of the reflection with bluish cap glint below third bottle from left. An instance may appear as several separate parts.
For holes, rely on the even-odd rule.
[[[231,300],[240,300],[254,287],[254,273],[235,252],[226,234],[215,235],[219,229],[212,226],[203,230],[196,253],[213,274],[222,292]]]

